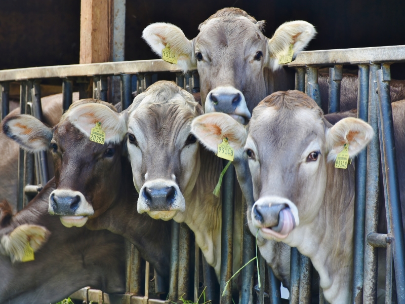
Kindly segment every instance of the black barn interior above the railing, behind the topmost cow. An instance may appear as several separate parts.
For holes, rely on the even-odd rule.
[[[173,23],[192,39],[230,6],[266,20],[268,37],[285,21],[312,23],[318,34],[307,50],[405,45],[403,0],[127,0],[126,60],[157,58],[141,39],[148,24]],[[78,63],[79,32],[79,0],[0,0],[0,69]]]

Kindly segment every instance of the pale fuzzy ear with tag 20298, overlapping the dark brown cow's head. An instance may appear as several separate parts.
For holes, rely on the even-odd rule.
[[[85,103],[70,109],[67,119],[77,129],[90,137],[91,130],[98,122],[105,133],[104,143],[119,143],[127,133],[126,111],[120,115],[108,106],[100,103]]]

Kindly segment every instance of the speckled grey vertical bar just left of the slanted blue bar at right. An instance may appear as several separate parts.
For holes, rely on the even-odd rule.
[[[369,77],[369,121],[376,136],[369,143],[367,148],[367,185],[366,185],[366,219],[365,235],[377,232],[378,222],[378,201],[380,195],[380,141],[378,134],[377,106],[378,97],[377,75],[379,65],[370,65]],[[377,298],[377,248],[365,244],[364,253],[364,281],[363,281],[363,302],[375,303]]]

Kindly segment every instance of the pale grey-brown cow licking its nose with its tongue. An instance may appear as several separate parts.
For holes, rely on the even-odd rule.
[[[392,106],[394,126],[402,126],[405,102]],[[243,172],[250,176],[250,171],[253,181],[255,204],[248,208],[249,227],[258,233],[266,260],[273,258],[274,240],[297,247],[318,271],[325,298],[331,303],[349,302],[354,162],[347,169],[335,168],[334,163],[345,146],[350,158],[365,148],[376,136],[371,126],[355,118],[332,126],[311,98],[287,91],[261,101],[247,128],[223,113],[209,113],[194,119],[192,132],[210,150],[216,150],[226,136],[236,157],[249,159],[250,170]],[[395,138],[396,150],[401,151],[401,128],[395,128]],[[401,168],[400,153],[397,161]]]

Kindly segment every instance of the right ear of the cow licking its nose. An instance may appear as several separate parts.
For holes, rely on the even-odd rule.
[[[355,157],[367,146],[373,136],[373,128],[361,119],[342,119],[326,131],[328,161],[335,161],[345,144],[349,145],[349,157]]]

